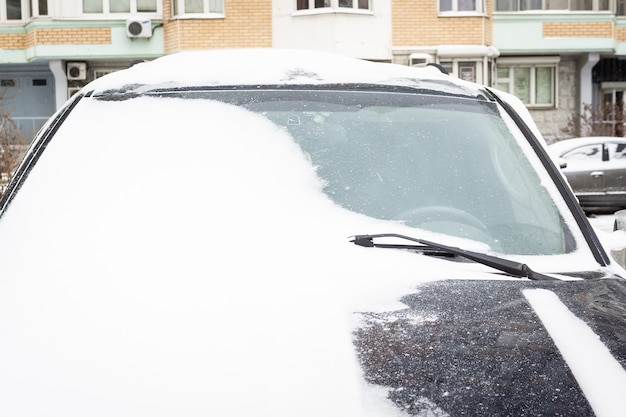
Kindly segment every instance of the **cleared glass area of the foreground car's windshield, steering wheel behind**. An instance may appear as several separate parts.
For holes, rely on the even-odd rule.
[[[243,106],[284,128],[325,193],[351,211],[480,241],[500,253],[575,249],[558,195],[546,189],[529,162],[536,156],[493,102],[384,91],[170,95],[181,94]]]

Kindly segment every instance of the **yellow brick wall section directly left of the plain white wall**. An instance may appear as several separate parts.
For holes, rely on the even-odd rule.
[[[173,19],[163,1],[165,53],[208,48],[272,46],[272,0],[225,0],[223,19]]]

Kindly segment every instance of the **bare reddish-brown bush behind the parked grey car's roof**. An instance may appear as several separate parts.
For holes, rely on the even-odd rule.
[[[624,107],[621,104],[602,108],[584,104],[580,114],[573,114],[562,131],[572,137],[624,136]]]

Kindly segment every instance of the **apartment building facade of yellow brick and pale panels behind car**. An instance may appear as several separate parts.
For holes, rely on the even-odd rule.
[[[0,99],[30,137],[90,80],[138,61],[205,48],[319,49],[439,63],[517,95],[558,140],[585,105],[623,105],[626,76],[606,68],[626,55],[626,11],[556,3],[0,0]]]

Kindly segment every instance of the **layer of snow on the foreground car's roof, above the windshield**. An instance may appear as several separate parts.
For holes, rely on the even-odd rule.
[[[242,71],[242,68],[247,70]],[[434,83],[439,91],[482,95],[477,85],[450,77],[432,66],[417,68],[381,64],[321,51],[262,48],[167,55],[97,79],[87,86],[87,90],[97,93],[130,85],[177,87],[342,83],[412,87]]]

